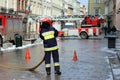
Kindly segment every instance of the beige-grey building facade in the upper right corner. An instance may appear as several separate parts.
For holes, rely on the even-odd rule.
[[[108,27],[115,26],[120,30],[120,0],[105,0],[105,15]]]

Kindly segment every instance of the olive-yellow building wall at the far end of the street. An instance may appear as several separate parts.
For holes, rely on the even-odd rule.
[[[98,0],[98,3],[96,3],[96,0],[89,0],[88,1],[88,14],[96,15],[95,9],[99,9],[99,14],[104,14],[105,12],[104,1],[105,0]]]

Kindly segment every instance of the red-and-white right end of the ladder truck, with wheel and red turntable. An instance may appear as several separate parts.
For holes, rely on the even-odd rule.
[[[105,20],[98,16],[85,16],[81,28],[78,29],[80,37],[87,39],[89,36],[101,35],[101,24],[104,22]]]

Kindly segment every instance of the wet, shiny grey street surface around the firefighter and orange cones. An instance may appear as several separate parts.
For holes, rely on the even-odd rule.
[[[6,69],[0,67],[0,80],[112,80],[111,70],[107,62],[108,53],[102,51],[107,47],[107,39],[63,39],[58,40],[61,76],[47,76],[44,63],[34,72]],[[33,67],[43,56],[42,44],[28,47],[31,59],[26,60],[26,49],[4,51],[0,55],[0,64]],[[77,61],[73,61],[74,50]],[[52,60],[52,59],[51,59]],[[53,63],[53,62],[52,62]]]

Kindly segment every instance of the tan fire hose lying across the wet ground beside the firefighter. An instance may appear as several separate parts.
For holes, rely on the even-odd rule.
[[[16,69],[16,70],[24,70],[24,71],[34,71],[36,68],[38,68],[44,62],[44,60],[45,60],[45,56],[36,66],[34,66],[32,68],[13,66],[13,65],[3,65],[3,64],[0,64],[0,67],[9,68],[9,69]]]

